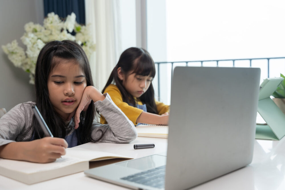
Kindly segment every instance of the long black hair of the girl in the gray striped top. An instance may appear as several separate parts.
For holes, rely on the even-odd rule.
[[[51,41],[45,44],[38,55],[35,69],[35,89],[36,89],[36,106],[42,114],[43,119],[50,128],[54,137],[65,138],[66,123],[57,114],[49,99],[48,76],[52,69],[59,63],[56,58],[75,60],[84,72],[87,86],[93,86],[91,69],[87,56],[82,47],[74,41]],[[95,106],[91,101],[86,112],[81,112],[79,128],[77,129],[78,144],[86,142],[97,142],[91,137],[91,126],[95,117]],[[44,137],[40,125],[33,117],[32,126],[34,126],[34,139]]]

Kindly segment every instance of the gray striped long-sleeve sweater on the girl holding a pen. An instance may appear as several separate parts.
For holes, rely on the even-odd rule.
[[[95,102],[95,107],[105,117],[108,124],[94,123],[91,136],[98,139],[101,131],[105,131],[99,142],[128,143],[137,138],[137,131],[133,122],[115,105],[109,94],[105,93],[103,101]],[[21,103],[12,108],[0,119],[0,146],[10,142],[29,141],[33,134],[32,105],[34,102]],[[30,130],[28,130],[30,128]],[[74,120],[70,120],[66,134],[75,132]]]

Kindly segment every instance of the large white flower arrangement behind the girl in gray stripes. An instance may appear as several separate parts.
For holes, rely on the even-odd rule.
[[[30,83],[34,84],[34,70],[38,54],[44,44],[52,40],[74,40],[82,46],[87,57],[95,51],[95,44],[90,35],[89,25],[82,26],[76,22],[76,15],[71,13],[62,21],[58,15],[48,13],[44,19],[43,26],[29,22],[25,24],[25,33],[21,37],[27,49],[24,50],[13,40],[5,46],[3,51],[8,55],[9,60],[19,68],[30,73]],[[70,34],[75,32],[75,36]]]

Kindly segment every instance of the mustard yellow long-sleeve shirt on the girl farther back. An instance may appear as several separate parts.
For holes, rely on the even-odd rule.
[[[104,93],[106,92],[110,95],[113,102],[125,113],[125,115],[129,118],[129,120],[131,120],[135,125],[137,125],[136,121],[143,112],[143,110],[130,106],[126,102],[123,102],[122,94],[116,85],[110,84],[109,86],[107,86]],[[139,99],[135,98],[135,100],[137,101],[138,105],[143,105],[143,103]],[[169,105],[165,105],[164,103],[158,101],[155,101],[155,104],[157,107],[158,115],[162,115],[170,111]],[[105,118],[102,116],[100,117],[100,123],[102,124],[107,123]]]

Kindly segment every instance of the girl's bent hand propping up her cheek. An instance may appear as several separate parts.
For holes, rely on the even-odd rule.
[[[87,86],[84,89],[80,103],[78,105],[78,108],[76,109],[76,113],[74,116],[74,128],[75,129],[78,128],[79,122],[80,122],[80,113],[82,111],[87,110],[89,104],[91,103],[91,100],[93,100],[93,102],[96,102],[99,100],[103,101],[104,99],[105,99],[105,96],[99,90],[97,90],[93,86]]]

